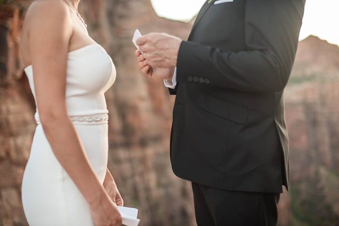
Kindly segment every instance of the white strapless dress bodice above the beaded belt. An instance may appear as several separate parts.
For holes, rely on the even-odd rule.
[[[32,65],[26,67],[25,72],[37,106]],[[66,76],[69,116],[107,114],[104,93],[113,85],[115,78],[114,63],[100,45],[92,44],[69,52]],[[35,118],[39,119],[38,108]]]

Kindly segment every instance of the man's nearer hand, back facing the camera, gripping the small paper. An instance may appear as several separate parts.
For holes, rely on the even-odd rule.
[[[176,67],[181,42],[166,33],[149,33],[136,41],[148,65],[155,68]]]

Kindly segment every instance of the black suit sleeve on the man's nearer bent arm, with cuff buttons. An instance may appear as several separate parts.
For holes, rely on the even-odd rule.
[[[304,0],[246,1],[247,49],[221,49],[183,41],[177,61],[177,81],[244,92],[277,92],[290,77],[302,23]]]

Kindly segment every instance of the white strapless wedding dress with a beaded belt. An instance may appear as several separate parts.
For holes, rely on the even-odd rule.
[[[36,97],[32,66],[25,68],[25,72]],[[100,45],[88,45],[68,53],[68,114],[101,183],[108,155],[108,111],[104,93],[115,78],[112,59]],[[22,203],[28,224],[94,226],[88,203],[56,159],[45,137],[38,110],[35,118],[38,125],[22,181]]]

